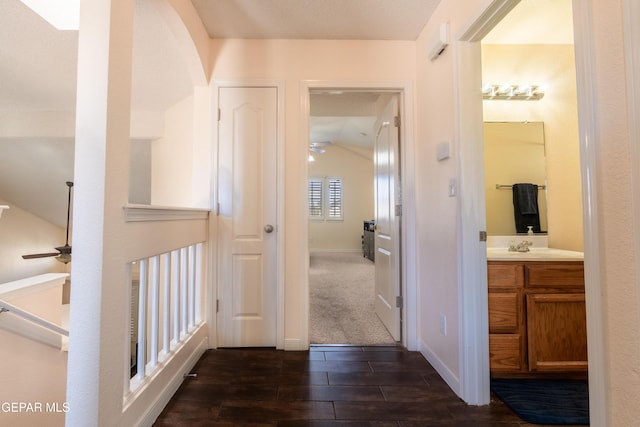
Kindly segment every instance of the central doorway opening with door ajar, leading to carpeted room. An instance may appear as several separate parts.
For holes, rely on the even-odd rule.
[[[388,213],[391,210],[395,214],[395,206],[400,204],[400,168],[395,171],[396,177],[387,173],[388,165],[387,169],[380,166],[388,159],[395,159],[400,165],[399,138],[394,138],[397,150],[387,155],[389,129],[392,136],[399,136],[399,121],[394,123],[393,118],[383,118],[384,107],[389,103],[394,106],[391,111],[396,112],[391,114],[399,116],[400,97],[398,91],[379,89],[309,91],[307,202],[311,344],[401,341],[401,312],[396,306],[402,295],[401,217],[390,217]],[[381,150],[385,150],[384,155],[380,155]],[[386,207],[381,214],[379,207],[385,200]],[[383,220],[379,230],[376,218]],[[388,228],[389,220],[398,227],[393,233],[385,234],[382,230]],[[371,251],[369,236],[374,234],[377,243]],[[384,242],[397,248],[385,248]]]

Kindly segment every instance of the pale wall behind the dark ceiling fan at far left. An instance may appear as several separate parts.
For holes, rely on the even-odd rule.
[[[0,205],[10,206],[0,217],[0,283],[68,271],[68,267],[56,261],[55,257],[22,259],[26,254],[56,252],[57,246],[64,245],[64,228],[2,199]]]

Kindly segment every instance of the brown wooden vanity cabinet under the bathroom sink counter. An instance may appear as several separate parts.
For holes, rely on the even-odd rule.
[[[489,261],[492,376],[586,372],[582,261]]]

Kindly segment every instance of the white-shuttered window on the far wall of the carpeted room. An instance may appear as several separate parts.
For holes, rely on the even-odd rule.
[[[342,221],[342,188],[340,178],[309,178],[309,218],[316,221]]]

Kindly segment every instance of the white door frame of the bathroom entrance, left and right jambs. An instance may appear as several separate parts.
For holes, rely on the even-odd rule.
[[[465,260],[466,268],[462,273],[462,287],[465,289],[464,297],[461,301],[460,310],[462,316],[462,342],[467,354],[477,357],[465,357],[461,366],[464,378],[461,397],[470,404],[486,404],[489,401],[489,370],[488,370],[488,340],[485,338],[487,312],[484,304],[477,305],[477,301],[486,301],[486,290],[476,289],[473,285],[474,277],[486,277],[486,250],[476,251],[478,248],[478,230],[483,230],[484,220],[484,183],[481,178],[482,169],[479,168],[482,162],[482,106],[478,102],[477,93],[481,82],[481,55],[480,43],[482,38],[500,21],[519,0],[506,0],[492,3],[481,17],[471,22],[463,30],[458,41],[458,58],[460,64],[457,73],[458,96],[456,106],[459,111],[457,118],[458,131],[460,135],[460,151],[462,170],[469,171],[461,177],[460,185],[469,190],[469,197],[461,200],[463,212],[470,212],[475,209],[472,215],[465,216],[461,223],[461,244],[463,247],[462,257]],[[583,2],[572,2],[574,13],[574,31],[576,45],[578,40],[581,49],[576,51],[576,70],[579,102],[578,114],[580,117],[580,148],[581,152],[588,152],[584,157],[586,160],[581,164],[583,183],[593,179],[594,169],[593,159],[595,156],[591,152],[593,147],[587,146],[586,141],[597,139],[594,126],[596,119],[591,111],[590,103],[593,102],[593,88],[590,80],[593,65],[590,61],[589,52],[593,52],[593,42],[589,37],[589,25],[591,19],[590,6]],[[480,147],[480,149],[478,148]],[[594,157],[591,157],[594,156]],[[589,188],[584,189],[583,197],[585,212],[595,210],[595,194]],[[598,236],[595,230],[598,229],[595,218],[591,214],[586,214],[585,221],[585,252],[595,254],[597,257]],[[484,246],[484,245],[481,245]],[[587,295],[594,296],[597,301],[599,295],[599,265],[597,260],[585,264],[585,288]],[[595,304],[587,305],[587,318],[589,323],[588,339],[589,346],[589,381],[591,384],[603,384],[605,371],[603,369],[604,355],[602,347],[601,314],[595,308]],[[602,419],[606,413],[601,402],[601,390],[595,387],[590,394],[590,402],[593,404],[591,414],[592,423]],[[596,422],[598,424],[598,422]]]

